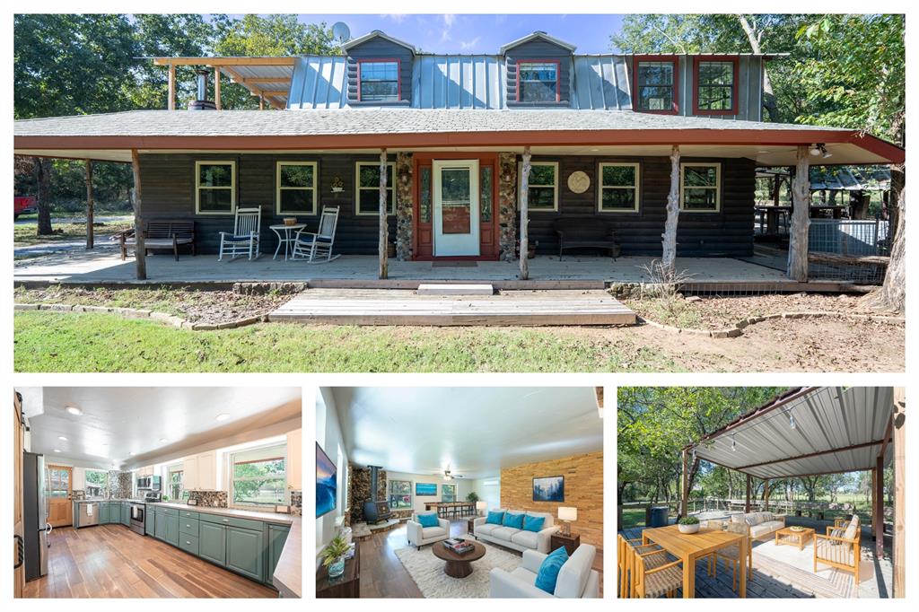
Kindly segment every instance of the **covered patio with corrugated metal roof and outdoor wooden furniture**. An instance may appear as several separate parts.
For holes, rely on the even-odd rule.
[[[743,514],[697,514],[698,534],[680,534],[676,538],[680,546],[670,543],[674,538],[658,537],[659,532],[664,535],[664,529],[675,533],[675,527],[631,528],[620,533],[625,538],[656,542],[668,557],[680,559],[685,548],[698,543],[696,538],[711,539],[743,525],[749,534],[747,542],[753,547],[749,579],[739,577],[736,584],[728,577],[732,572],[727,562],[718,567],[720,571],[710,572],[704,562],[706,552],[698,556],[698,562],[681,560],[683,585],[676,591],[685,597],[736,597],[744,596],[744,592],[748,597],[903,597],[904,412],[901,388],[809,387],[788,391],[683,449],[677,518],[691,516],[689,495],[700,461],[746,476]],[[884,470],[893,471],[893,512],[886,521],[887,529]],[[770,511],[769,482],[857,471],[871,473],[872,488],[870,516],[857,516],[856,526],[849,528],[854,516],[835,521],[777,513],[764,516]],[[758,503],[753,499],[754,479],[764,484]],[[762,512],[752,513],[754,505]],[[764,523],[759,522],[761,519]],[[777,527],[756,528],[773,522]]]

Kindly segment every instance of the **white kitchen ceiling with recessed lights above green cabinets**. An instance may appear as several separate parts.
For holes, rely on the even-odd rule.
[[[22,393],[29,420],[32,452],[86,467],[143,465],[146,459],[153,461],[301,414],[299,387],[33,387],[17,391]],[[83,414],[68,413],[68,406]],[[217,421],[218,414],[230,416]]]

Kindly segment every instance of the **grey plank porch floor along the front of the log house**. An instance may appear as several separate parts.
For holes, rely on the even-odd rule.
[[[527,289],[603,289],[610,282],[637,283],[650,280],[642,266],[653,257],[538,256],[529,262]],[[779,270],[732,258],[681,257],[677,266],[685,270],[689,282],[696,284],[777,283],[800,284]],[[233,282],[309,282],[311,287],[373,288],[377,278],[377,257],[342,255],[325,264],[273,260],[262,255],[255,261],[237,258],[218,262],[216,255],[156,254],[147,257],[146,284],[158,283],[233,283]],[[121,261],[117,253],[72,251],[20,260],[14,266],[17,282],[61,282],[86,284],[134,284],[135,263]],[[519,270],[514,262],[422,262],[390,260],[389,281],[395,289],[415,289],[421,281],[491,282],[498,289],[514,289]],[[541,286],[540,286],[541,285]],[[554,285],[554,287],[553,287]],[[520,287],[523,289],[524,287]]]

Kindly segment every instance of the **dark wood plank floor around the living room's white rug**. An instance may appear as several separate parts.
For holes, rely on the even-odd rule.
[[[456,538],[468,533],[466,520],[450,523],[450,536]],[[367,597],[423,597],[412,576],[396,557],[396,550],[407,546],[405,525],[385,533],[374,534],[360,542],[360,596]],[[493,542],[489,546],[497,546]],[[519,555],[518,550],[497,547]],[[600,572],[600,596],[603,596],[603,550],[596,551],[594,569]]]

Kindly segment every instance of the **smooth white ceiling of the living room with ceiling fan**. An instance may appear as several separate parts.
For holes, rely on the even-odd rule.
[[[603,449],[593,387],[336,387],[349,458],[465,478]]]

